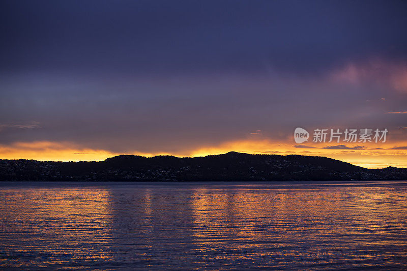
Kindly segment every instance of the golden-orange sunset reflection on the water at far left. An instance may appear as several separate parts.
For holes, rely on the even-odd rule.
[[[109,259],[109,190],[20,188],[2,194],[0,225],[9,230],[1,238],[8,239],[3,250],[10,255],[41,255],[37,263],[30,262],[39,268],[49,267],[50,255],[59,258],[53,265],[93,261],[96,255],[99,261]],[[23,258],[7,260],[24,266]]]

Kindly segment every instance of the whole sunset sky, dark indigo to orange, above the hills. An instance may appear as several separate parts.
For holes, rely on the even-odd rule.
[[[2,1],[0,159],[407,167],[405,1]],[[294,130],[310,133],[297,144]],[[385,142],[312,142],[315,129]]]

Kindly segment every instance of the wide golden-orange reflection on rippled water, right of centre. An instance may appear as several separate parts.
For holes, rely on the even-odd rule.
[[[288,257],[287,266],[307,258],[313,264],[366,261],[387,253],[391,257],[391,251],[372,249],[385,245],[399,246],[407,256],[406,238],[396,237],[406,232],[406,209],[399,205],[406,198],[394,189],[236,189],[230,193],[208,188],[194,192],[196,244],[212,261],[236,262],[244,257],[267,265],[262,259]],[[333,259],[338,250],[358,248],[372,251],[362,249],[348,258],[344,253]]]

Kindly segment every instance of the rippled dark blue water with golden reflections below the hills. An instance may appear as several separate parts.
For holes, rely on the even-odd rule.
[[[407,269],[407,182],[0,183],[0,269]]]

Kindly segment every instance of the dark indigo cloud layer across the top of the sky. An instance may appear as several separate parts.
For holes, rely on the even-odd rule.
[[[2,71],[319,72],[406,59],[404,1],[3,1]]]

